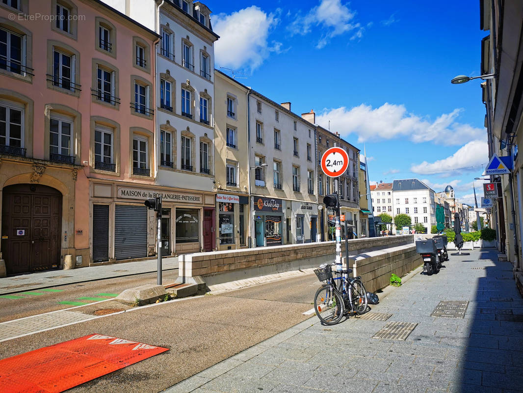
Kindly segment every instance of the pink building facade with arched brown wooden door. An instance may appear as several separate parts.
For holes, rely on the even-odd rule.
[[[97,0],[5,3],[0,202],[7,274],[60,268],[67,255],[79,267],[154,254],[154,220],[134,189],[154,190],[157,176],[160,37]]]

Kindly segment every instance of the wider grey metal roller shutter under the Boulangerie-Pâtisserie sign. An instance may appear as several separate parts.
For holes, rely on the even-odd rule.
[[[115,258],[147,256],[147,208],[116,205]]]

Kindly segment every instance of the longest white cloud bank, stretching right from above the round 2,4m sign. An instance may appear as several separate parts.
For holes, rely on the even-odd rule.
[[[331,129],[344,136],[357,134],[358,143],[406,137],[415,143],[433,141],[442,145],[463,145],[470,140],[486,139],[484,128],[456,122],[460,112],[455,109],[431,122],[427,117],[408,113],[404,105],[385,103],[373,108],[360,104],[350,109],[342,106],[325,110],[316,116],[316,122],[328,127],[330,121]]]

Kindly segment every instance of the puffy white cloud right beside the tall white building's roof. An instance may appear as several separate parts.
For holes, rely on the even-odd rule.
[[[214,47],[217,65],[233,69],[247,67],[252,71],[271,52],[279,53],[281,42],[272,41],[270,45],[268,42],[270,31],[278,23],[276,14],[266,14],[254,5],[230,15],[215,15],[212,26],[220,36]]]

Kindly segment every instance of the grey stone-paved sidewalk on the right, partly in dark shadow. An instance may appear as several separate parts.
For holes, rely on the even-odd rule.
[[[353,316],[323,326],[314,317],[166,391],[523,391],[523,300],[511,264],[476,249],[450,252],[436,275],[419,271],[372,306],[392,314],[386,321]],[[448,313],[431,316],[441,301],[452,302]],[[404,341],[373,339],[388,322],[417,325]]]

